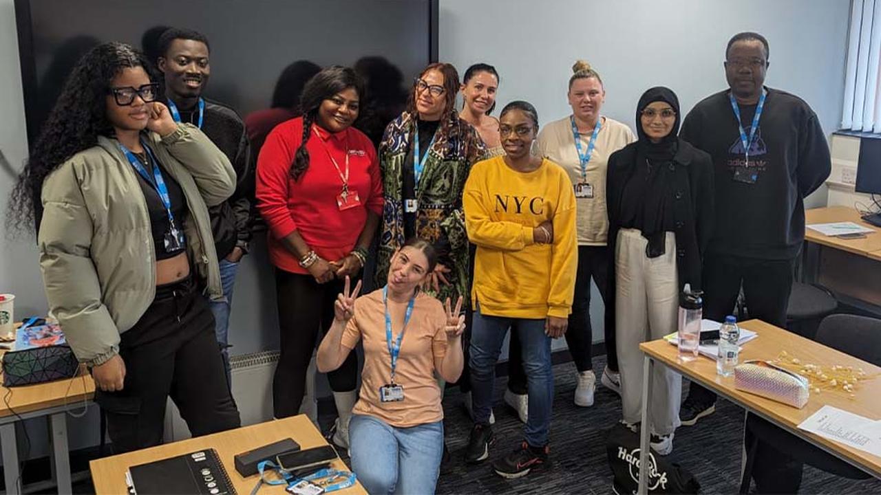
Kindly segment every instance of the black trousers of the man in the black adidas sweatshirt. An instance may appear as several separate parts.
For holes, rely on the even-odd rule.
[[[704,259],[704,318],[724,321],[734,314],[741,283],[750,318],[786,328],[786,308],[795,277],[796,260],[759,260],[732,255]],[[715,403],[716,396],[692,381],[688,398]]]

